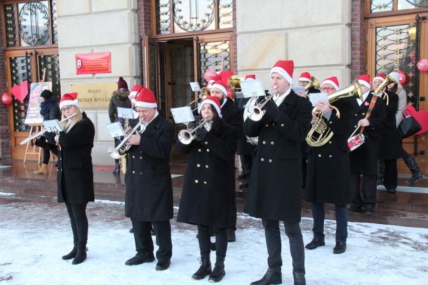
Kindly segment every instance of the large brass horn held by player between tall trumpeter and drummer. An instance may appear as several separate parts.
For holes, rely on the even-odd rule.
[[[355,79],[354,83],[348,87],[338,90],[328,96],[329,103],[346,98],[360,98],[360,100],[363,100],[363,93],[361,91],[360,83],[357,79]],[[339,109],[334,106],[331,107],[336,110],[336,115],[338,118],[340,118]],[[311,147],[324,146],[333,136],[333,131],[327,126],[323,119],[323,112],[320,112],[317,108],[314,107],[312,112],[316,111],[318,111],[319,114],[306,136],[306,142]]]

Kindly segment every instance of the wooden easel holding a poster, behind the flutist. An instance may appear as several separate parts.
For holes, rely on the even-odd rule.
[[[43,80],[38,83],[31,83],[30,86],[30,97],[28,100],[28,109],[27,115],[25,117],[25,124],[30,125],[30,134],[29,137],[32,136],[33,132],[39,132],[42,128],[43,117],[40,114],[40,103],[42,99],[40,98],[40,94],[43,90],[49,89],[52,90],[52,82],[44,82],[46,69],[43,71]],[[32,145],[32,150],[28,151],[30,148],[30,144]],[[40,158],[42,156],[42,149],[38,148],[32,144],[32,141],[29,140],[27,146],[25,148],[24,155],[24,164],[27,160],[28,155],[36,155],[38,157],[37,163],[40,164]]]

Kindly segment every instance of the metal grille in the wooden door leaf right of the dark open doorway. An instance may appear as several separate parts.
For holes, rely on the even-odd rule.
[[[230,71],[230,42],[199,43],[200,57],[200,86],[206,86],[203,78],[207,69],[214,71]],[[222,68],[223,64],[223,68]]]

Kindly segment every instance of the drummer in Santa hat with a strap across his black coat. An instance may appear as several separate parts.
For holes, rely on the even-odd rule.
[[[348,213],[363,210],[364,214],[373,215],[376,205],[379,130],[386,127],[386,105],[382,98],[370,92],[371,81],[368,74],[361,75],[357,80],[363,98],[350,99],[354,106],[354,114],[348,136],[352,138],[355,134],[362,133],[364,143],[349,153],[352,203]],[[360,195],[361,175],[363,198]]]

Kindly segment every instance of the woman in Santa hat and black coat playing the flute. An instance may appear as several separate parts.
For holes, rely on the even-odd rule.
[[[59,102],[63,131],[45,132],[36,139],[36,146],[58,149],[57,199],[65,203],[73,232],[73,249],[62,259],[72,264],[86,259],[88,220],[86,205],[94,201],[91,152],[95,127],[79,108],[77,93],[64,94]],[[66,119],[68,118],[68,119]]]

